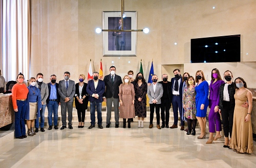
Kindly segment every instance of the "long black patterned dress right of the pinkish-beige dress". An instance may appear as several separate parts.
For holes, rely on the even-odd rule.
[[[143,82],[141,86],[135,82],[134,84],[135,91],[135,114],[138,117],[146,118],[146,93],[147,93],[147,83]],[[138,98],[142,98],[141,101]]]

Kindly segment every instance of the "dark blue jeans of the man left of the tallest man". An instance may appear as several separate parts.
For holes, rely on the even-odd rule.
[[[91,125],[95,125],[95,107],[97,108],[98,125],[102,125],[101,106],[102,106],[102,102],[101,103],[98,103],[96,101],[90,102]]]

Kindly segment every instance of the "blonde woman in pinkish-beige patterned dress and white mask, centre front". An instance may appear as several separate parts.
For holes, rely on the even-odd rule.
[[[119,87],[119,100],[120,100],[120,114],[119,117],[123,118],[123,128],[126,127],[126,119],[128,119],[128,128],[131,128],[131,118],[135,117],[134,108],[134,86],[128,75],[123,78],[123,83]]]

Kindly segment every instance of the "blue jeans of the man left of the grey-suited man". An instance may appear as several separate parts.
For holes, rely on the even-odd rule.
[[[52,126],[52,114],[53,114],[53,124],[54,126],[57,126],[58,108],[59,108],[59,104],[57,101],[49,101],[49,103],[47,104],[49,126]]]

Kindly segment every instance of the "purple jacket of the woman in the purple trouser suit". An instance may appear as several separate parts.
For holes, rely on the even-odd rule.
[[[213,106],[219,105],[220,101],[220,86],[225,83],[223,80],[217,80],[215,83],[212,83],[214,80],[211,80],[210,82],[210,95],[209,100],[215,101],[215,104],[212,104]]]

